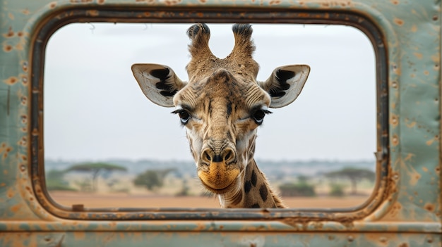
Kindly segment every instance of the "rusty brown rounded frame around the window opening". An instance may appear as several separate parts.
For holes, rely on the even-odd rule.
[[[43,84],[44,51],[51,35],[69,23],[297,23],[344,24],[362,30],[376,53],[377,88],[377,182],[371,197],[356,208],[325,209],[187,209],[187,208],[69,208],[59,205],[49,196],[44,179],[43,146]],[[386,39],[371,20],[361,13],[348,11],[299,11],[287,8],[118,8],[94,6],[64,8],[50,13],[33,32],[31,64],[31,177],[37,200],[47,212],[71,220],[282,220],[294,225],[299,222],[339,222],[351,224],[371,213],[394,189],[389,179],[388,146],[388,57]]]

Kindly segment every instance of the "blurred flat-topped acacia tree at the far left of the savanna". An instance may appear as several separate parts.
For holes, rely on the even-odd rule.
[[[97,182],[99,175],[108,176],[110,172],[123,171],[126,172],[126,167],[119,165],[113,165],[109,163],[80,163],[77,165],[72,165],[66,169],[66,172],[90,172],[92,173],[91,185],[92,191],[97,191]]]

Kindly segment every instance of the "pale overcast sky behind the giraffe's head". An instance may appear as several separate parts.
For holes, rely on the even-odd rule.
[[[232,24],[210,24],[210,48],[232,51]],[[133,63],[168,65],[181,80],[191,24],[73,23],[49,39],[44,61],[44,156],[191,160],[173,108],[145,98]],[[261,160],[374,160],[376,63],[360,30],[344,25],[252,24],[258,80],[280,65],[308,64],[294,103],[270,109],[258,129]]]

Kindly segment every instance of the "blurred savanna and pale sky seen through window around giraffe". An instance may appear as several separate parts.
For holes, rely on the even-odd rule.
[[[232,24],[210,24],[225,58]],[[179,118],[145,98],[133,63],[160,63],[181,80],[191,24],[74,23],[49,39],[44,69],[44,169],[60,204],[219,208],[203,190]],[[364,33],[344,25],[253,24],[258,80],[308,64],[294,103],[271,109],[255,159],[292,208],[366,201],[376,162],[376,63]]]

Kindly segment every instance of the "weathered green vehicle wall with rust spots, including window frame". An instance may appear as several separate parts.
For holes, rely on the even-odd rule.
[[[0,246],[441,246],[439,1],[3,0]],[[348,211],[84,210],[44,191],[44,47],[71,22],[345,23],[378,70],[378,186]]]

